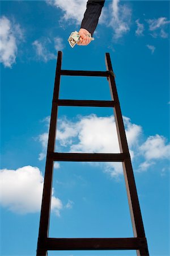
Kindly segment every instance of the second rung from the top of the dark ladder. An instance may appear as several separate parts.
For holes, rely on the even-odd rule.
[[[95,100],[57,100],[58,106],[94,106],[94,107],[114,107],[114,101]]]

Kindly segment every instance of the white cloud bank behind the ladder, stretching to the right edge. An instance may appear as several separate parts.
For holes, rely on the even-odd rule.
[[[168,159],[170,146],[161,135],[150,136],[143,142],[142,127],[123,117],[131,160],[137,171],[146,171],[160,159]],[[49,119],[46,119],[49,122]],[[48,125],[49,126],[49,125]],[[46,135],[44,135],[46,134]],[[48,133],[39,136],[42,147],[46,147]],[[118,153],[116,123],[113,116],[97,117],[95,114],[78,116],[76,121],[66,117],[58,119],[57,148],[62,152]],[[42,154],[42,153],[41,153]],[[100,167],[111,177],[123,174],[122,164],[88,163]]]

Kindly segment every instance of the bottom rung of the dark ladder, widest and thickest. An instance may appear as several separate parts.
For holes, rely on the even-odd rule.
[[[47,238],[46,250],[139,250],[146,238]]]

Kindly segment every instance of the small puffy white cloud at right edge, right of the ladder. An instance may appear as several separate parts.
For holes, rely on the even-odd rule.
[[[147,138],[140,150],[147,160],[170,158],[170,144],[165,144],[166,139],[156,134]]]

